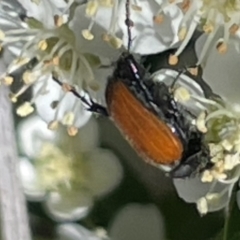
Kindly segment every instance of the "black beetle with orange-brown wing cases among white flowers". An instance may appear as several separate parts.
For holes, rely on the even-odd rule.
[[[108,79],[107,106],[87,100],[74,88],[71,91],[88,105],[89,111],[109,116],[146,162],[165,169],[173,178],[191,177],[211,165],[204,134],[189,120],[191,113],[175,101],[173,85],[153,81],[130,53],[133,23],[129,1],[126,0],[128,51],[122,53]]]

